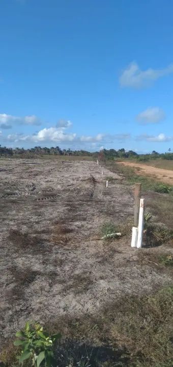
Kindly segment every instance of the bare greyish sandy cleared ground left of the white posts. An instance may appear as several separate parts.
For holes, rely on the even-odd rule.
[[[100,240],[106,221],[129,225],[134,204],[122,176],[103,171],[88,161],[0,160],[2,341],[27,320],[95,313],[171,282],[170,272],[141,266],[129,234]]]

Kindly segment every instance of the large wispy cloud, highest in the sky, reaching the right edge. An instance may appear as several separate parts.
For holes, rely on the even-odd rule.
[[[142,88],[150,86],[158,78],[173,73],[173,64],[164,69],[140,70],[139,66],[132,62],[120,76],[121,87]]]

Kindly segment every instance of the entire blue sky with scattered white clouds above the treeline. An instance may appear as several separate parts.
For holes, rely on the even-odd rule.
[[[170,0],[3,0],[1,144],[173,150]]]

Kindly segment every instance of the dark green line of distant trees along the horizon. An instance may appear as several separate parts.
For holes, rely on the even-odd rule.
[[[11,158],[37,158],[43,155],[74,155],[74,156],[93,156],[93,158],[100,158],[100,160],[114,160],[114,159],[137,159],[138,161],[149,161],[151,159],[166,159],[173,160],[173,153],[171,153],[171,149],[169,148],[166,153],[158,153],[153,150],[152,153],[148,154],[137,154],[133,150],[126,151],[124,148],[116,150],[116,149],[103,149],[96,152],[89,152],[86,150],[71,150],[69,149],[61,149],[59,146],[56,147],[40,147],[35,146],[31,149],[24,148],[7,148],[2,147],[0,145],[0,156],[8,156]]]

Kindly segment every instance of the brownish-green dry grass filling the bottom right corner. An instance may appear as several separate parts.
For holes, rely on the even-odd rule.
[[[65,339],[126,348],[128,362],[118,364],[124,367],[172,367],[172,306],[173,288],[168,287],[141,298],[127,295],[93,316],[58,318],[48,328],[60,330]]]

